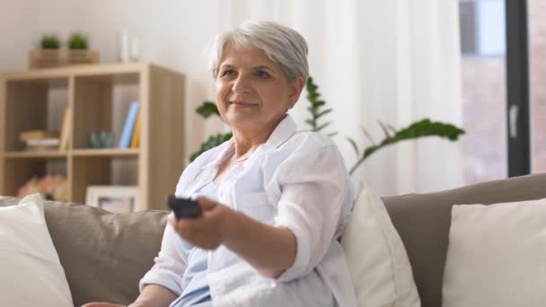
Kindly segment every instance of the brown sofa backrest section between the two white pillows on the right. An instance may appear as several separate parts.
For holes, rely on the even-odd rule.
[[[442,281],[451,208],[454,204],[494,204],[546,197],[546,174],[496,180],[430,194],[383,197],[400,233],[423,307],[442,304]]]

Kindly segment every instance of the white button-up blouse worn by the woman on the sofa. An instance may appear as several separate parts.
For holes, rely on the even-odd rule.
[[[189,164],[176,195],[189,197],[216,177],[221,162],[234,151],[225,142]],[[208,251],[207,279],[215,306],[356,307],[345,253],[339,241],[351,213],[354,191],[339,150],[330,138],[295,132],[286,116],[268,141],[225,174],[218,200],[233,210],[295,234],[295,262],[277,279],[260,274],[221,245]],[[163,285],[174,294],[184,289],[187,256],[180,237],[167,224],[154,267],[140,281]]]

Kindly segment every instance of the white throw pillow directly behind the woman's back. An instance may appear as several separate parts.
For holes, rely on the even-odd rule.
[[[410,259],[381,198],[360,181],[343,233],[348,268],[360,307],[418,307]],[[359,190],[359,189],[357,189]]]

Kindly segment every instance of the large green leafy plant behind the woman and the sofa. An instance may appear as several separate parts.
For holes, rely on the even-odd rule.
[[[319,87],[316,83],[313,82],[312,77],[309,77],[309,79],[307,80],[306,89],[307,100],[310,102],[310,105],[307,108],[307,110],[309,110],[310,118],[305,119],[305,123],[310,127],[308,131],[321,132],[326,134],[327,136],[336,136],[338,133],[335,131],[325,132],[325,129],[330,126],[331,121],[322,123],[322,118],[329,114],[332,109],[327,108],[326,101],[321,100],[321,93],[318,92]],[[196,112],[203,118],[220,116],[220,113],[216,108],[216,104],[213,101],[204,101],[203,104],[198,107]],[[353,138],[348,136],[346,137],[347,141],[350,143],[350,145],[355,150],[355,153],[357,154],[357,162],[350,168],[350,174],[353,174],[355,171],[357,171],[357,168],[363,162],[365,162],[365,160],[369,158],[370,155],[376,153],[378,150],[388,145],[393,145],[401,141],[417,139],[419,137],[425,136],[444,137],[454,142],[459,139],[459,136],[462,136],[464,134],[464,130],[459,127],[455,127],[451,124],[431,121],[428,118],[418,120],[411,123],[410,126],[400,129],[383,124],[382,122],[379,122],[379,125],[383,130],[384,137],[383,140],[378,143],[374,142],[374,139],[372,138],[370,133],[362,128],[362,132],[371,143],[371,145],[368,145],[362,150],[358,148],[357,142]],[[216,145],[224,143],[231,137],[231,133],[219,133],[216,136],[209,136],[207,138],[207,141],[201,144],[199,150],[190,155],[189,161],[193,161],[195,158],[198,157],[199,154],[207,151],[210,148],[215,147]]]

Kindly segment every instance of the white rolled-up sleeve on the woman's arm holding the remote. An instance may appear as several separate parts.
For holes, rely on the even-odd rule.
[[[335,145],[297,154],[279,166],[275,225],[292,231],[297,246],[293,265],[277,281],[308,274],[330,248],[347,195],[346,172]]]

